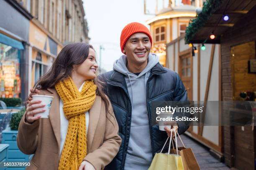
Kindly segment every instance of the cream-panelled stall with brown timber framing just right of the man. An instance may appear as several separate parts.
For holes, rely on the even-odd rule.
[[[185,44],[184,36],[169,42],[166,45],[166,66],[179,73],[186,87],[188,99],[191,101],[218,101],[220,100],[220,45],[205,45],[201,50],[200,44],[192,55],[192,47]],[[205,117],[216,115],[208,109]],[[218,126],[190,126],[186,132],[195,140],[211,149],[219,158],[223,157],[221,148],[222,130]]]

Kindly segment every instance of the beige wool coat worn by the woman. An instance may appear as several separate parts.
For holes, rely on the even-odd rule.
[[[57,170],[60,157],[60,113],[59,95],[55,89],[40,90],[40,95],[54,97],[49,118],[25,122],[25,114],[20,121],[17,135],[19,149],[25,154],[34,154],[27,170]],[[105,105],[100,96],[89,110],[90,120],[87,131],[87,155],[96,170],[103,169],[118,153],[121,138],[118,124],[110,104],[110,114],[106,115]]]

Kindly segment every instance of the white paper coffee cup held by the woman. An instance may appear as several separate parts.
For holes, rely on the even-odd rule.
[[[48,118],[49,117],[49,112],[50,112],[50,107],[51,107],[51,102],[53,100],[53,96],[49,95],[32,95],[33,100],[41,100],[41,104],[45,104],[44,107],[37,108],[36,110],[45,110],[43,113],[38,113],[35,114],[34,116],[41,116],[41,118]]]

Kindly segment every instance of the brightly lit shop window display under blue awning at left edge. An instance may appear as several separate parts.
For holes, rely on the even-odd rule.
[[[20,50],[0,43],[0,97],[20,94]]]

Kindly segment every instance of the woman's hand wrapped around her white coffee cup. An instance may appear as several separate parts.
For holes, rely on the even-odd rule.
[[[46,111],[45,109],[36,110],[38,108],[43,108],[43,107],[45,107],[45,104],[41,104],[41,100],[31,100],[27,105],[27,109],[25,113],[26,122],[33,123],[35,120],[40,119],[41,116],[34,116],[34,115],[45,112]]]

